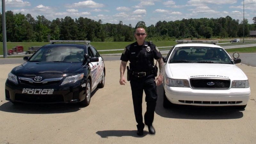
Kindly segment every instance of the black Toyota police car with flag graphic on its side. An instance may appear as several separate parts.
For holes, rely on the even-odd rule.
[[[88,106],[91,92],[105,83],[104,61],[89,43],[51,41],[24,57],[26,62],[8,74],[5,99],[14,104],[80,102]]]

